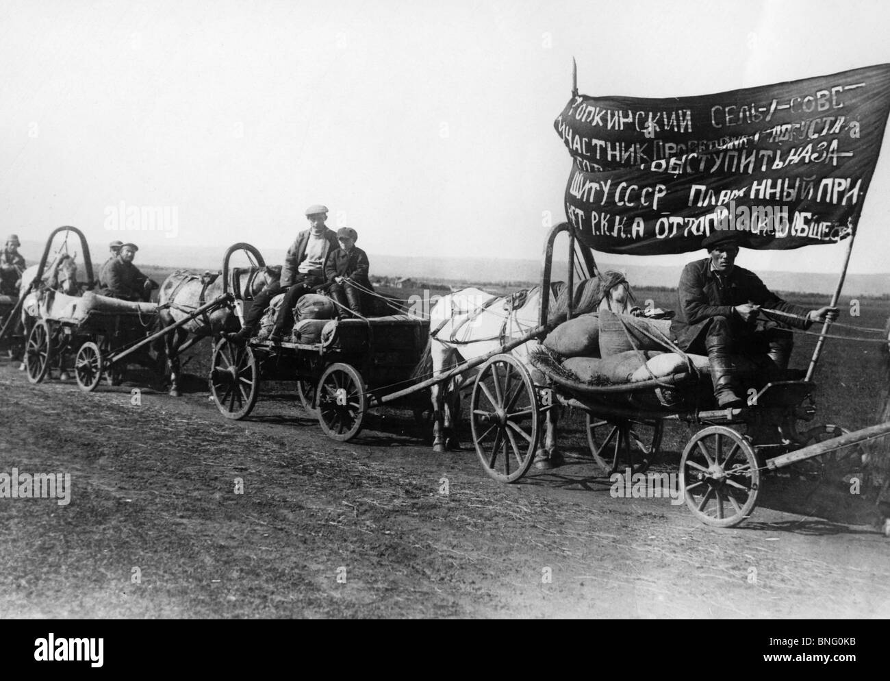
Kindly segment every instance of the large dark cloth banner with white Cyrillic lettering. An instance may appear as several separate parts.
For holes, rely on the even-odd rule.
[[[890,64],[700,97],[572,97],[565,210],[604,253],[835,243],[855,229],[890,109]]]

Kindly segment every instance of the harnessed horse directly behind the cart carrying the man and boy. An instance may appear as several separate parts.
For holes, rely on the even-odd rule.
[[[235,272],[231,288],[243,292],[248,299],[257,296],[264,288],[278,285],[281,268],[250,267]],[[158,293],[158,328],[166,328],[177,321],[185,319],[203,304],[223,295],[223,278],[205,272],[198,276],[193,272],[178,271],[171,274],[161,284]],[[218,307],[212,312],[190,320],[182,327],[166,334],[163,340],[163,351],[158,348],[158,359],[166,362],[170,369],[170,395],[179,397],[179,357],[192,345],[208,336],[219,336],[228,331],[237,331],[239,325],[235,315],[228,306]],[[163,369],[162,369],[163,371]]]

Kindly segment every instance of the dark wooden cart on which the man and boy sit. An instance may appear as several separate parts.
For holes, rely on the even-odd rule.
[[[254,247],[244,249],[259,256]],[[223,281],[229,281],[232,253],[230,248],[223,260]],[[243,320],[251,297],[243,290],[231,294]],[[392,401],[397,388],[414,383],[411,372],[428,331],[429,320],[386,314],[327,320],[318,342],[255,338],[239,345],[222,338],[214,346],[211,393],[225,418],[240,419],[254,409],[263,380],[294,383],[324,433],[347,441],[359,434],[368,409]],[[411,392],[414,397],[406,396],[402,406],[417,403],[419,391]]]

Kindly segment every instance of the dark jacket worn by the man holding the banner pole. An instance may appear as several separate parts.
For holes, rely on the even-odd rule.
[[[806,317],[805,307],[787,303],[766,288],[754,272],[738,265],[726,276],[726,285],[721,288],[716,274],[711,272],[711,260],[697,260],[688,263],[680,275],[677,286],[679,305],[676,318],[671,322],[671,333],[676,343],[688,350],[708,331],[710,320],[715,317],[732,319],[732,308],[745,303],[758,304],[766,310],[779,310]],[[810,328],[812,322],[779,318],[782,324],[797,328]]]

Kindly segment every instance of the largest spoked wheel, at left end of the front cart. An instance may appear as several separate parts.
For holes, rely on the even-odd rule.
[[[535,458],[540,430],[538,393],[529,370],[510,354],[485,362],[473,384],[470,414],[485,473],[498,482],[519,480]]]

